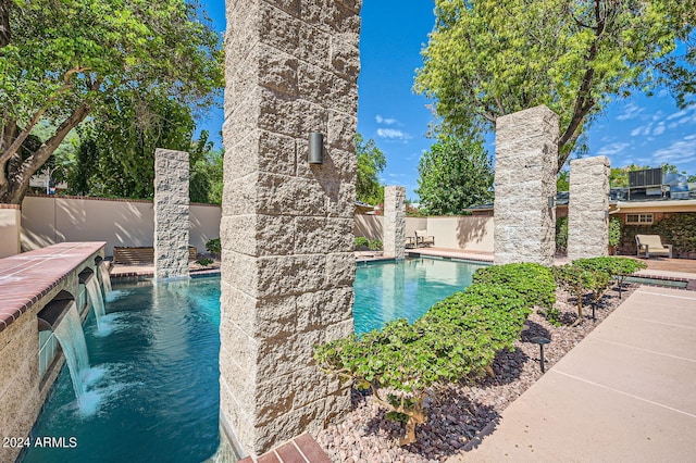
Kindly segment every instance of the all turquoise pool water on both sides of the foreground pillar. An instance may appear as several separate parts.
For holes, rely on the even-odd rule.
[[[470,285],[481,266],[427,259],[360,265],[356,333],[418,318]],[[69,448],[32,447],[24,462],[190,463],[215,452],[220,278],[114,289],[102,329],[94,314],[84,325],[91,368],[82,406],[63,368],[33,430],[33,441],[63,437]]]

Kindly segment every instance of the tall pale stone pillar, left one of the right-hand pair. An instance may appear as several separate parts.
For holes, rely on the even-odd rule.
[[[498,117],[494,262],[554,263],[558,115],[545,105]]]

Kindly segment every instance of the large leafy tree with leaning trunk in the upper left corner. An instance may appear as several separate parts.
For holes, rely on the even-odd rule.
[[[86,118],[109,121],[122,104],[152,99],[206,108],[222,88],[220,38],[196,1],[14,0],[9,25],[0,202],[20,203],[30,176]],[[40,123],[55,129],[20,158]]]

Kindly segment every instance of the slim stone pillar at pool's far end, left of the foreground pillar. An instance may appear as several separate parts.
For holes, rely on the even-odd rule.
[[[154,151],[154,277],[188,277],[188,153]]]

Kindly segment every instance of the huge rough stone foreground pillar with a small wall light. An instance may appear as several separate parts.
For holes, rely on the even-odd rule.
[[[312,355],[353,331],[360,4],[226,2],[221,415],[249,454],[350,409]]]

